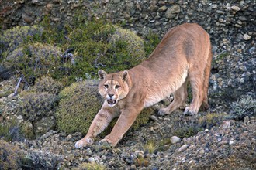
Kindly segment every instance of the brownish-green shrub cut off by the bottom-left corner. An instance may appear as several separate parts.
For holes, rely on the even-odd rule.
[[[0,140],[0,167],[1,169],[19,169],[21,152],[19,147]]]

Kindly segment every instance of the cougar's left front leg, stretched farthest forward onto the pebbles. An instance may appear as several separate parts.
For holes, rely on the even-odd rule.
[[[112,121],[114,117],[118,116],[117,114],[118,111],[116,108],[104,107],[103,105],[102,109],[99,110],[99,113],[92,121],[92,124],[87,134],[85,135],[85,138],[77,141],[74,145],[75,148],[83,148],[85,145],[91,145],[95,136],[101,133],[109,125],[110,121]]]

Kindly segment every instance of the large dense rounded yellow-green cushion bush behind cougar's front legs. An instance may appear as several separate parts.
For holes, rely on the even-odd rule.
[[[57,107],[57,127],[67,134],[88,131],[93,118],[103,104],[98,92],[98,82],[85,80],[73,83],[59,93],[60,104]]]

